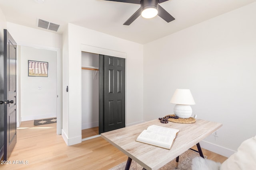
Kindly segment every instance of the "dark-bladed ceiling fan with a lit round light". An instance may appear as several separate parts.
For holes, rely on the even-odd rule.
[[[126,2],[131,4],[140,4],[140,8],[127,20],[123,25],[130,25],[140,15],[144,18],[153,18],[158,15],[166,22],[175,20],[164,8],[159,4],[168,0],[108,0],[116,2]]]

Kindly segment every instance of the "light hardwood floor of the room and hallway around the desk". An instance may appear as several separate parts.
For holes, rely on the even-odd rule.
[[[224,156],[202,150],[208,159],[226,160]],[[34,126],[34,121],[24,121],[17,129],[17,143],[8,159],[11,164],[0,165],[0,169],[108,170],[127,158],[102,137],[67,146],[62,136],[56,134],[56,123]],[[13,164],[16,161],[24,164]]]

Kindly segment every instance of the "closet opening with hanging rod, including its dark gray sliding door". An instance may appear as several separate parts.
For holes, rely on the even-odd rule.
[[[82,51],[82,141],[125,127],[126,59]]]

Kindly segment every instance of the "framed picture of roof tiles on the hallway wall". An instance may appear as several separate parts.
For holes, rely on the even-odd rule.
[[[48,77],[48,62],[28,60],[28,76]]]

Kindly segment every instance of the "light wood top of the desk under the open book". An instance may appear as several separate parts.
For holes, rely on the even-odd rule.
[[[140,133],[150,125],[179,129],[170,150],[136,142]],[[158,119],[101,134],[101,137],[146,168],[157,170],[190,149],[222,126],[221,123],[197,119],[195,123],[160,123]],[[128,160],[129,160],[128,158]]]

